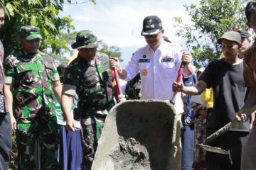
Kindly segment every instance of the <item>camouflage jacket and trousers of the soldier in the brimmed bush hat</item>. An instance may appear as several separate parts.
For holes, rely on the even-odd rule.
[[[114,106],[107,55],[98,54],[95,64],[88,64],[80,56],[66,69],[63,94],[78,94],[74,117],[81,119],[83,165],[90,169],[97,149],[107,112]]]

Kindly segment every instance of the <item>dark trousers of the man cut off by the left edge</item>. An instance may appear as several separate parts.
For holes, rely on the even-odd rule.
[[[9,113],[0,113],[0,169],[8,169],[11,156],[11,118]]]

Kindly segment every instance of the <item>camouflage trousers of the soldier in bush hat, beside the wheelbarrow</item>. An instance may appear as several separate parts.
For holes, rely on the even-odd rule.
[[[106,115],[90,115],[81,119],[82,125],[82,169],[90,170],[95,157],[98,141],[102,133]]]

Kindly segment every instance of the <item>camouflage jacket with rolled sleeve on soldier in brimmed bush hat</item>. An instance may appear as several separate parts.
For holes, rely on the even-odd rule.
[[[104,110],[113,106],[111,82],[107,55],[97,53],[95,64],[88,64],[78,56],[66,69],[63,94],[78,94],[75,115],[107,114]]]

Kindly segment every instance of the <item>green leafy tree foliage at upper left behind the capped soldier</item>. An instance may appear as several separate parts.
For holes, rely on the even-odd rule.
[[[59,12],[63,10],[64,0],[1,0],[6,6],[5,26],[0,30],[0,39],[4,43],[5,55],[18,50],[18,30],[21,26],[31,25],[41,28],[43,36],[41,50],[54,47],[58,44],[56,36],[60,30],[74,29],[73,19],[60,18]],[[71,1],[70,1],[71,2]],[[59,46],[65,47],[65,43]]]

